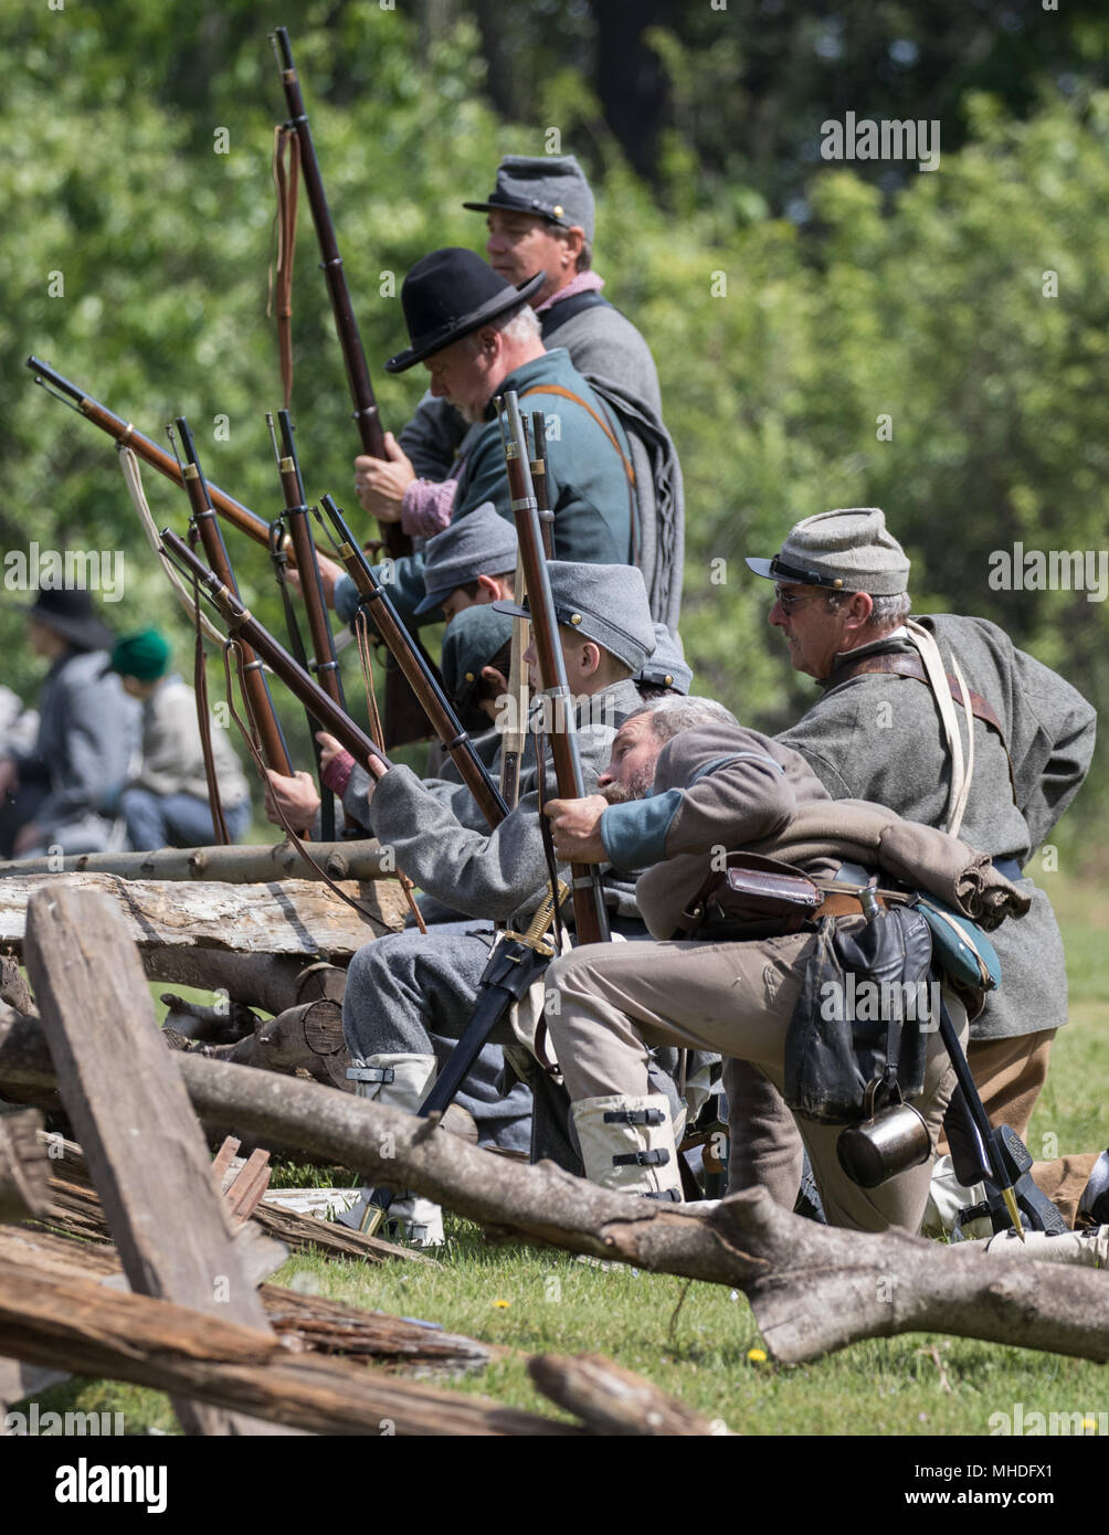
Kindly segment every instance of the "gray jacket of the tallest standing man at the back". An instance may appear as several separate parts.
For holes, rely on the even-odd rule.
[[[676,634],[682,606],[685,496],[677,451],[662,422],[654,358],[631,321],[611,304],[590,304],[565,321],[559,309],[556,302],[539,316],[544,344],[567,348],[574,368],[624,427],[639,503],[634,563],[647,582],[651,617]],[[416,474],[444,480],[452,474],[467,430],[452,405],[425,394],[399,442]]]

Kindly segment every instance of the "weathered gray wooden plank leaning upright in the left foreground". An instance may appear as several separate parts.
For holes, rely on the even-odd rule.
[[[264,1329],[121,912],[55,883],[31,896],[25,949],[58,1090],[132,1286]],[[175,1411],[186,1432],[255,1431],[190,1400]]]

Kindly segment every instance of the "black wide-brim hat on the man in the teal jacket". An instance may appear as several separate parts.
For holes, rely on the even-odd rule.
[[[473,250],[461,246],[433,250],[415,264],[401,287],[412,345],[386,362],[386,373],[404,373],[510,309],[521,309],[544,281],[545,273],[536,272],[516,287],[498,276]]]

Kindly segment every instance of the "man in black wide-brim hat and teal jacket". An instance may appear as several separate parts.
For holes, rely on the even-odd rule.
[[[561,347],[547,352],[528,305],[542,286],[536,273],[521,287],[505,282],[472,250],[435,250],[404,279],[401,304],[412,345],[386,364],[402,373],[424,362],[432,393],[450,399],[478,431],[467,439],[445,520],[458,522],[492,500],[510,519],[504,442],[493,399],[516,390],[521,408],[541,411],[547,428],[547,490],[554,556],[598,565],[631,563],[637,503],[628,442],[619,421],[605,418],[593,388]],[[353,616],[356,594],[330,560],[321,576],[335,589],[341,617]],[[422,556],[402,556],[379,571],[399,617],[410,626],[424,597]],[[336,586],[338,582],[338,586]]]

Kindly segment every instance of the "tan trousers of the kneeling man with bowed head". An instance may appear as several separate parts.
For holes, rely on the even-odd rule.
[[[785,1033],[814,942],[811,933],[791,933],[747,944],[587,944],[556,959],[547,972],[547,987],[554,990],[547,1025],[571,1099],[645,1094],[648,1045],[717,1050],[751,1061],[780,1091]],[[951,995],[946,1001],[963,1032],[965,1008]],[[955,1074],[935,1032],[929,1035],[925,1091],[915,1102],[932,1144],[954,1087]],[[840,1127],[806,1119],[796,1124],[833,1225],[919,1228],[928,1165],[882,1188],[859,1188],[836,1157]],[[730,1133],[736,1145],[745,1127],[731,1119]]]

